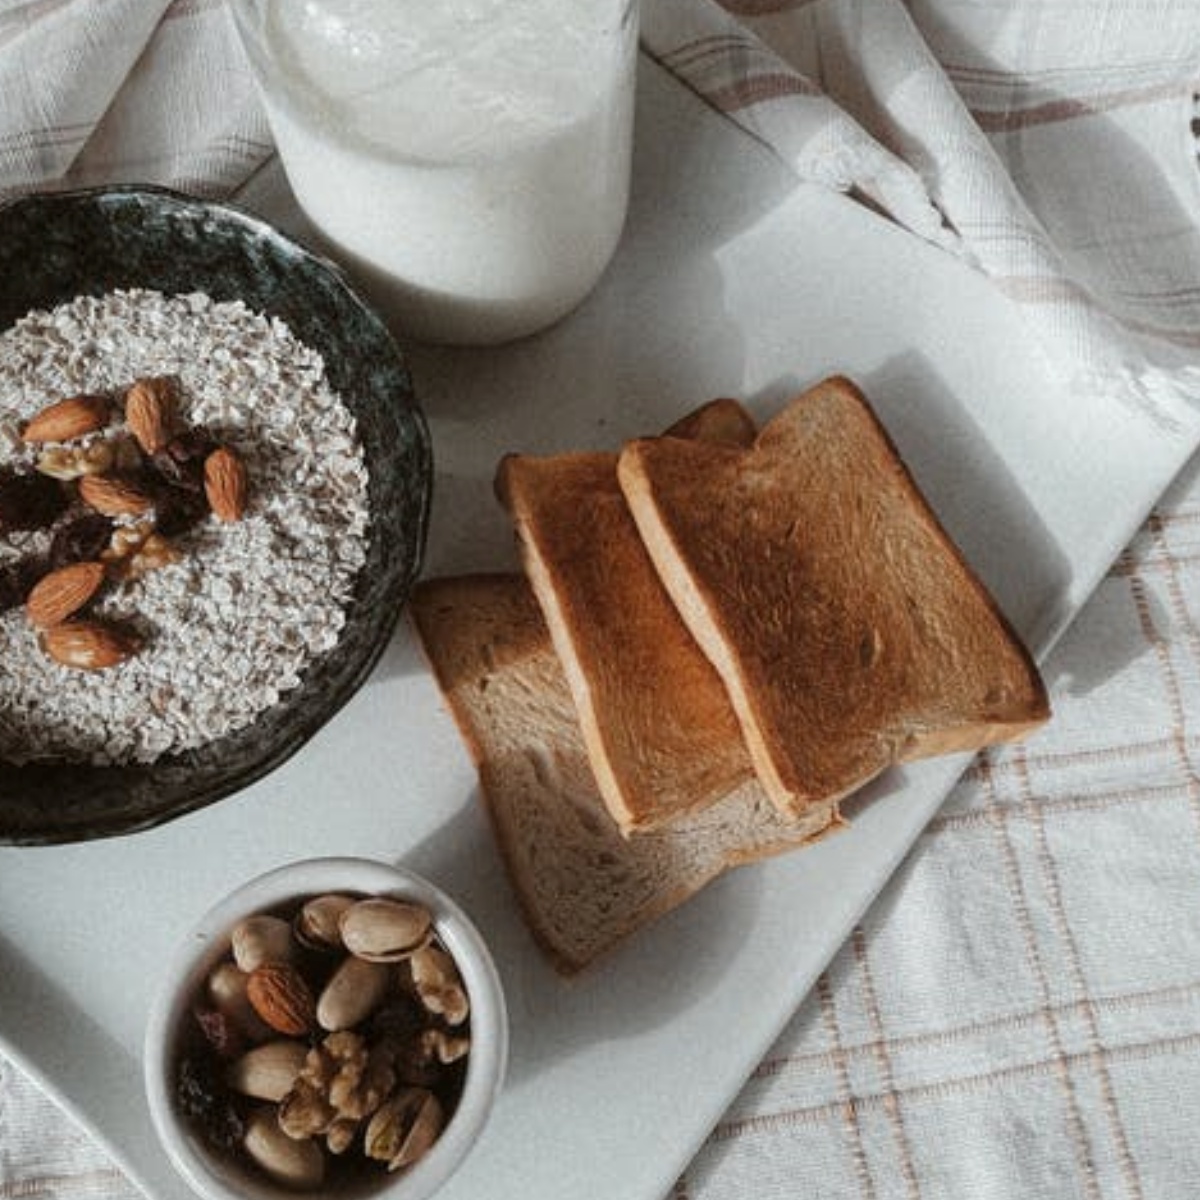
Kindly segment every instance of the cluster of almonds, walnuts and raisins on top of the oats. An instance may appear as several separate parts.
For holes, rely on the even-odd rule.
[[[175,539],[208,514],[242,517],[246,468],[179,419],[178,382],[48,404],[16,440],[29,469],[0,467],[0,535],[54,529],[46,554],[0,568],[0,612],[25,606],[42,649],[67,667],[116,666],[142,644],[128,624],[86,616],[110,583],[178,560]]]

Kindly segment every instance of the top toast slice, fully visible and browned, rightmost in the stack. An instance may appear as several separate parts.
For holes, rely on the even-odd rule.
[[[643,439],[618,475],[785,811],[1049,716],[1037,667],[852,383],[749,449]]]

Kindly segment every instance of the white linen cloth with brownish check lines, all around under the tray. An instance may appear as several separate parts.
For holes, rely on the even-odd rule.
[[[643,47],[984,272],[1073,398],[1200,400],[1190,0],[644,0]],[[0,0],[0,196],[236,194],[270,154],[216,0]],[[1198,619],[1193,467],[1046,664],[1051,726],[972,767],[674,1200],[1196,1194]],[[136,1192],[0,1061],[0,1200],[42,1194]]]

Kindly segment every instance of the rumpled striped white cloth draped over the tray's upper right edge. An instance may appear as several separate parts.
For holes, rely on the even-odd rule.
[[[799,175],[986,272],[1072,390],[1170,421],[1200,397],[1193,0],[910,8],[647,0],[643,36]]]

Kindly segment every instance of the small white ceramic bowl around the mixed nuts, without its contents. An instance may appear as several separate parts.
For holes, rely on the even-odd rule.
[[[454,1112],[422,1158],[397,1172],[364,1159],[359,1169],[341,1176],[330,1172],[314,1194],[324,1200],[424,1200],[454,1174],[487,1123],[504,1079],[508,1018],[496,966],[469,918],[442,889],[398,866],[361,858],[293,863],[239,887],[182,936],[146,1022],[144,1074],[155,1130],[176,1170],[205,1200],[295,1200],[298,1193],[271,1182],[252,1164],[212,1150],[180,1112],[176,1069],[192,1007],[212,967],[228,956],[230,932],[244,917],[287,910],[330,892],[410,900],[432,913],[434,931],[455,959],[469,996],[470,1052]],[[338,1184],[340,1177],[346,1182]]]

